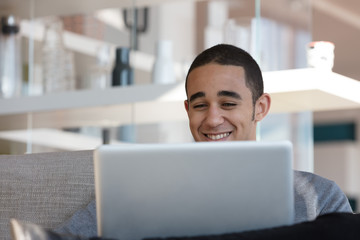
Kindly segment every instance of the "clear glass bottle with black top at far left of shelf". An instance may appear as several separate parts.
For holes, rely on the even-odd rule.
[[[19,19],[1,18],[0,97],[20,96],[22,87],[21,36]]]

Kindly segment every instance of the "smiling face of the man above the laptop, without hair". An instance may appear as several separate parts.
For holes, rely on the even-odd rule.
[[[256,140],[257,120],[242,67],[198,67],[188,76],[187,92],[185,108],[195,141]]]

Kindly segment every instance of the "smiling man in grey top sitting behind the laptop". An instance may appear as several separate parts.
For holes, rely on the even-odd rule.
[[[185,109],[195,141],[252,141],[268,113],[261,70],[245,51],[220,44],[200,53],[190,66]],[[295,222],[332,212],[352,212],[345,194],[330,180],[294,171]]]

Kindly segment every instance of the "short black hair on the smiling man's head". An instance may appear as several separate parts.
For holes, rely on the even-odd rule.
[[[204,50],[194,59],[185,79],[186,95],[189,74],[194,69],[209,63],[243,67],[245,71],[245,83],[251,91],[254,105],[259,97],[264,93],[264,83],[261,70],[253,57],[245,50],[236,46],[229,44],[218,44]]]

